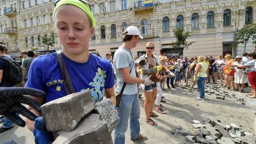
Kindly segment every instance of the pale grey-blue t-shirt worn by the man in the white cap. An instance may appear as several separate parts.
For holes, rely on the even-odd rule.
[[[116,78],[117,78],[116,92],[119,93],[124,83],[123,76],[121,76],[121,72],[119,71],[119,69],[129,67],[129,72],[130,72],[130,69],[132,69],[132,71],[130,72],[130,75],[136,76],[135,59],[132,56],[132,52],[130,50],[127,50],[125,47],[120,46],[119,49],[117,49],[114,54],[113,64],[114,64],[114,74],[116,75]],[[132,95],[136,93],[137,93],[137,84],[126,84],[123,94]]]

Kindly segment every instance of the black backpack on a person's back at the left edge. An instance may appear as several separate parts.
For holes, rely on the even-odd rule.
[[[7,76],[7,81],[9,82],[9,84],[20,84],[20,82],[23,80],[23,69],[21,68],[21,66],[14,60],[9,59],[8,57],[0,56],[0,58],[7,60],[7,62],[9,63],[9,73]]]

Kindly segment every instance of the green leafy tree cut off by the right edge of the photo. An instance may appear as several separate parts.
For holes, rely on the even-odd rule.
[[[245,52],[245,49],[249,40],[252,40],[253,44],[256,43],[256,24],[246,24],[244,25],[244,27],[238,30],[238,33],[235,36],[235,41],[233,45],[237,47],[239,43],[244,44],[244,52]]]

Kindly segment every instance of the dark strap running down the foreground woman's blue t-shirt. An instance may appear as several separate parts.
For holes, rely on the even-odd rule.
[[[60,71],[62,72],[66,95],[76,92],[75,88],[73,87],[71,77],[69,76],[69,72],[68,72],[68,68],[66,67],[65,60],[62,57],[62,50],[57,51],[57,61],[59,63]]]

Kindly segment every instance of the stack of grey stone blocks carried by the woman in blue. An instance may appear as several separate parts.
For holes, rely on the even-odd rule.
[[[119,120],[110,99],[94,103],[89,91],[41,105],[41,113],[57,144],[112,144],[111,132]]]

